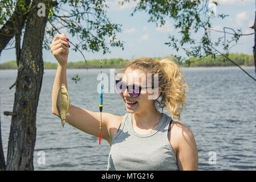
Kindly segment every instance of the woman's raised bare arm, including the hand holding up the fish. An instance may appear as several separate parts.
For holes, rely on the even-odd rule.
[[[54,40],[50,45],[51,52],[55,56],[58,61],[58,68],[55,75],[54,85],[52,87],[52,113],[60,117],[56,102],[58,97],[58,92],[60,86],[64,84],[67,88],[67,57],[68,57],[68,42],[66,40],[65,34],[58,34],[55,36]],[[63,43],[65,46],[62,47]],[[72,104],[72,101],[71,101]],[[82,109],[71,105],[68,108],[69,116],[66,116],[68,124],[76,127],[79,130],[82,130],[88,134],[99,136],[99,122],[100,122],[100,113],[93,112],[90,110]],[[115,128],[115,124],[119,126],[119,122],[122,117],[109,114],[102,113],[102,127],[101,127],[101,137],[111,144],[112,135],[111,130]],[[112,123],[109,125],[109,123]],[[113,127],[114,126],[114,127]],[[114,129],[115,130],[115,129]],[[117,130],[117,129],[116,129]]]

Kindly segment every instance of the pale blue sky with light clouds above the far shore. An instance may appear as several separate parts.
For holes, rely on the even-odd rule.
[[[111,53],[103,55],[102,52],[85,52],[87,60],[92,59],[135,59],[137,57],[164,57],[172,54],[185,56],[184,52],[176,52],[172,48],[165,45],[168,42],[169,35],[177,35],[178,30],[173,27],[171,19],[166,19],[166,23],[162,27],[157,27],[156,23],[149,23],[147,15],[144,12],[130,14],[136,6],[136,2],[130,2],[124,6],[119,5],[119,0],[106,1],[109,9],[107,16],[113,23],[122,24],[121,33],[117,37],[124,42],[124,50],[121,48],[110,48]],[[234,30],[241,28],[243,34],[253,33],[255,18],[255,0],[219,0],[217,7],[212,7],[217,14],[227,14],[224,20],[214,18],[212,27],[215,30],[223,30],[223,27],[231,27]],[[71,35],[67,30],[63,31],[67,38],[71,41]],[[212,38],[217,39],[223,36],[223,33],[212,32]],[[53,38],[52,38],[53,39]],[[254,35],[242,36],[236,46],[230,49],[231,53],[245,53],[252,55],[254,46]],[[72,48],[72,47],[71,47]],[[221,51],[221,47],[220,47]],[[0,63],[15,60],[15,49],[3,50],[0,56]],[[50,50],[43,50],[43,60],[46,62],[56,63],[56,60]],[[79,52],[70,50],[68,61],[83,61],[83,56]]]

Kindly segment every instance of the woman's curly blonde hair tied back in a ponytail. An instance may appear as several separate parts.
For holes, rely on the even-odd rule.
[[[181,121],[181,110],[186,106],[185,98],[188,96],[188,90],[184,76],[174,57],[164,59],[140,57],[129,61],[121,73],[124,73],[127,68],[141,69],[145,73],[158,73],[161,94],[155,100],[155,106],[162,110],[165,107],[168,113],[172,115],[173,121]],[[178,120],[173,118],[174,115],[178,117]]]

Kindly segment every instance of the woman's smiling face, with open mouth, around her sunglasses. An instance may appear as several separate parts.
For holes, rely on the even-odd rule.
[[[122,81],[126,85],[138,85],[141,88],[151,87],[147,85],[147,73],[144,73],[140,69],[127,68],[122,77]],[[146,110],[155,108],[155,103],[151,96],[153,93],[152,89],[141,89],[140,95],[138,97],[131,97],[128,90],[125,89],[124,93],[120,94],[123,98],[126,109],[128,113],[144,113]],[[149,93],[151,92],[151,93]]]

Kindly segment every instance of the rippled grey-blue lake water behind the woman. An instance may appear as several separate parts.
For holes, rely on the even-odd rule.
[[[255,76],[253,67],[244,68]],[[63,128],[60,119],[51,113],[51,90],[55,69],[44,70],[36,114],[35,170],[105,170],[109,144],[75,129]],[[71,80],[83,69],[68,69],[67,82],[71,104],[98,111],[97,75],[90,69],[77,84]],[[103,71],[110,74],[109,69]],[[117,72],[117,70],[116,70]],[[237,67],[183,68],[189,88],[187,107],[182,110],[182,123],[194,134],[200,170],[256,170],[256,82]],[[15,88],[9,90],[17,76],[16,70],[0,70],[1,126],[5,158],[11,117],[3,111],[13,109]],[[104,94],[104,112],[126,113],[117,93]],[[164,113],[167,114],[166,110]],[[39,164],[41,151],[46,164]]]

